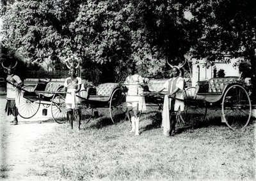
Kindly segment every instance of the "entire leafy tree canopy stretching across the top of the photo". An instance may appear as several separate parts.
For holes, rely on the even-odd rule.
[[[256,72],[254,0],[1,2],[4,45],[55,68],[80,57],[84,78],[95,83],[124,80],[132,62],[143,76],[164,76],[165,60],[179,64],[185,54],[210,63],[243,57]]]

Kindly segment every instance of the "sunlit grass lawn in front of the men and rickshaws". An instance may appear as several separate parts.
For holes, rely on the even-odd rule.
[[[82,124],[81,131],[61,124],[36,141],[32,160],[42,170],[29,174],[54,180],[255,180],[255,120],[231,131],[218,117],[178,125],[175,136],[165,137],[154,114],[141,116],[140,136],[129,133],[129,121],[111,124],[106,115]]]

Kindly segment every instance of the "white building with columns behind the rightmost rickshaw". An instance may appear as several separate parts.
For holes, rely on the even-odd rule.
[[[213,66],[208,68],[205,66],[206,59],[192,59],[192,86],[196,85],[197,81],[209,80],[214,77],[214,69],[216,73],[220,69],[224,70],[225,76],[240,76],[238,66],[234,64],[238,61],[237,59],[230,59],[230,62],[216,61]]]

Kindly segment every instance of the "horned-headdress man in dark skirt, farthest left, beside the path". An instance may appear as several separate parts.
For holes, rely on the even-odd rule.
[[[18,108],[17,108],[17,102],[19,101],[19,94],[20,94],[20,87],[22,87],[23,82],[22,80],[20,80],[20,77],[17,75],[13,74],[13,69],[15,68],[15,66],[17,66],[17,61],[15,63],[15,66],[9,66],[8,68],[6,68],[3,65],[2,62],[2,66],[4,69],[6,69],[7,71],[7,78],[6,78],[6,99],[7,99],[7,103],[6,103],[6,107],[5,107],[5,112],[7,112],[7,115],[13,115],[14,116],[14,120],[12,121],[12,125],[17,125],[18,124]]]

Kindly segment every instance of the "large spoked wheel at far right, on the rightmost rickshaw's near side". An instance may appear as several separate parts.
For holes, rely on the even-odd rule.
[[[222,119],[232,130],[242,129],[250,121],[252,104],[246,90],[241,85],[232,85],[222,100]]]

